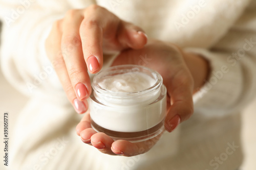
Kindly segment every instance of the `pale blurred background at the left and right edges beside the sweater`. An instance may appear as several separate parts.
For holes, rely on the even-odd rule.
[[[0,32],[1,32],[1,22],[0,22]],[[0,41],[1,45],[1,41]],[[1,61],[0,61],[1,62]],[[4,112],[9,113],[9,135],[10,143],[12,141],[12,132],[15,130],[15,118],[22,108],[26,105],[28,98],[20,94],[15,90],[4,78],[2,70],[0,71],[0,155],[2,157],[4,153],[4,143],[3,131],[4,131]],[[244,148],[244,163],[240,170],[254,170],[256,169],[256,100],[252,101],[250,105],[243,111],[242,114],[242,142]],[[10,147],[10,145],[9,145]],[[9,148],[11,150],[11,148]],[[8,169],[3,165],[1,160],[0,169]],[[200,169],[199,169],[200,170]]]

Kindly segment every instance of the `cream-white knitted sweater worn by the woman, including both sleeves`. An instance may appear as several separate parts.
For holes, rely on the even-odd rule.
[[[242,162],[240,111],[256,92],[256,1],[0,0],[1,65],[9,82],[31,97],[20,112],[12,169],[234,170]],[[135,157],[109,156],[76,136],[81,118],[51,69],[44,41],[68,9],[96,3],[210,61],[209,81],[194,96],[195,113],[155,147]],[[105,63],[108,66],[109,63]]]

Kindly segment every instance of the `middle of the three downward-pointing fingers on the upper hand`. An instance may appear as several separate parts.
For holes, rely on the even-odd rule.
[[[79,10],[70,10],[63,20],[61,52],[72,87],[80,101],[86,100],[91,93],[90,77],[83,59],[79,27],[82,16]]]

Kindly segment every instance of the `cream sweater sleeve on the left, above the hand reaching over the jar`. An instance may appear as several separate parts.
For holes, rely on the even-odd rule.
[[[0,0],[3,22],[1,67],[7,80],[25,95],[62,93],[47,59],[45,40],[52,23],[69,9],[86,8],[93,0]]]

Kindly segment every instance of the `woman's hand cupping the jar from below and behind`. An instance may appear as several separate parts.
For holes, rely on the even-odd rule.
[[[136,64],[157,70],[167,88],[167,115],[165,129],[168,132],[193,114],[193,93],[204,84],[208,75],[208,62],[196,54],[184,53],[174,44],[150,41],[140,50],[125,50],[113,65]],[[133,156],[150,150],[162,134],[138,143],[126,140],[114,141],[104,133],[91,128],[90,115],[86,114],[76,127],[84,143],[91,143],[106,154]]]

